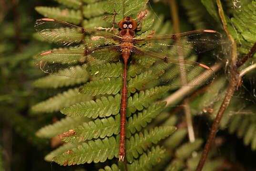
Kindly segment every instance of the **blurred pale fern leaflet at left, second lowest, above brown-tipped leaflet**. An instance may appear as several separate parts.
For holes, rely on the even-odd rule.
[[[67,132],[68,130],[81,125],[82,123],[88,121],[88,118],[71,118],[66,117],[60,121],[46,125],[36,132],[36,135],[42,138],[51,138],[61,133]]]

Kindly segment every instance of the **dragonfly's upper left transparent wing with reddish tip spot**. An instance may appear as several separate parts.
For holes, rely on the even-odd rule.
[[[105,31],[81,28],[57,19],[38,19],[35,22],[35,29],[51,42],[86,49],[106,46],[122,39]]]

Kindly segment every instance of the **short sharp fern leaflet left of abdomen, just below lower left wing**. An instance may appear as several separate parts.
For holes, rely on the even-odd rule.
[[[117,94],[122,85],[121,77],[118,78],[105,78],[94,80],[83,85],[79,92],[87,95],[104,95],[104,94]]]

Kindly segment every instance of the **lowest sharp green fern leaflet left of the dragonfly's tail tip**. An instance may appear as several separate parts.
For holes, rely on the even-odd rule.
[[[53,161],[60,165],[74,165],[83,163],[104,162],[107,159],[118,157],[119,151],[119,136],[115,139],[113,136],[97,139],[95,141],[83,142],[76,148],[72,148],[65,153],[53,158]]]

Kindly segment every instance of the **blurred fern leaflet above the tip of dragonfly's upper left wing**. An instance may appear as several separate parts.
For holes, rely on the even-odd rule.
[[[60,8],[55,7],[36,7],[35,10],[45,17],[63,20],[76,25],[81,22],[80,10],[61,10]]]

